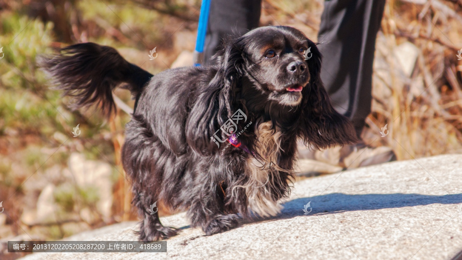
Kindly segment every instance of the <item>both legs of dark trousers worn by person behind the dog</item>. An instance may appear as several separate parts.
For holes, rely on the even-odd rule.
[[[375,38],[385,0],[326,0],[318,45],[321,79],[335,109],[349,117],[360,136],[371,113]],[[258,27],[261,0],[212,0],[205,41],[208,63],[221,39]]]

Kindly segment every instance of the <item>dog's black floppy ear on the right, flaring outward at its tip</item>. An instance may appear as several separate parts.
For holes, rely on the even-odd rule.
[[[313,42],[308,43],[313,55],[306,61],[310,71],[310,83],[302,90],[300,136],[305,144],[315,148],[357,142],[353,124],[335,111],[324,89],[320,77],[321,53]]]

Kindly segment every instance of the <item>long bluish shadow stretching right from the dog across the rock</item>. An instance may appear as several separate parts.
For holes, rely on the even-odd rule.
[[[305,209],[305,205],[310,202]],[[243,221],[243,224],[293,218],[295,216],[311,216],[336,214],[358,210],[380,210],[403,207],[424,206],[430,204],[462,203],[462,193],[448,195],[422,195],[422,194],[344,194],[331,193],[314,197],[297,198],[283,203],[284,209],[274,217],[255,218],[254,221]],[[454,208],[454,210],[457,209]],[[309,212],[305,214],[305,211]],[[462,206],[460,207],[462,210]]]

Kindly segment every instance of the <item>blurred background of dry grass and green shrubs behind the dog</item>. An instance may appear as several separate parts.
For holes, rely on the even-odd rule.
[[[192,64],[200,4],[0,0],[0,240],[56,240],[137,219],[120,164],[129,92],[116,92],[128,107],[110,120],[98,107],[72,112],[36,59],[95,42],[151,73]],[[322,0],[263,0],[260,25],[293,26],[316,42],[322,9]],[[367,143],[393,147],[398,160],[462,152],[461,48],[462,1],[387,2]]]

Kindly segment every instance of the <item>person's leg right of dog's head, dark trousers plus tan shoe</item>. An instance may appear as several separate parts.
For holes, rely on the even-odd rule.
[[[321,16],[321,79],[335,109],[350,118],[358,137],[371,113],[372,63],[384,6],[385,0],[326,0]],[[298,151],[299,159],[318,161],[316,168],[302,172],[331,173],[338,166],[356,168],[396,159],[391,148],[369,147],[363,142],[322,151],[299,145]]]

